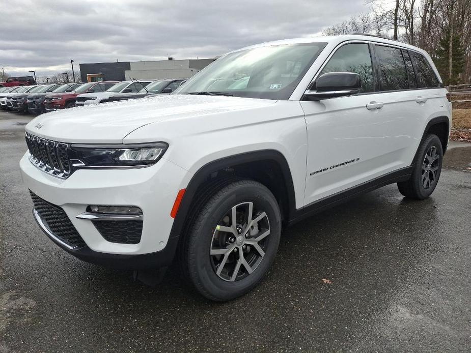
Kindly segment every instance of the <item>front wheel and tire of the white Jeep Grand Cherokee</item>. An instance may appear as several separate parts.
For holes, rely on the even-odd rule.
[[[251,204],[251,219],[256,222],[249,227]],[[259,284],[280,243],[281,214],[273,194],[255,181],[229,181],[192,216],[181,249],[188,283],[219,302],[242,296]]]

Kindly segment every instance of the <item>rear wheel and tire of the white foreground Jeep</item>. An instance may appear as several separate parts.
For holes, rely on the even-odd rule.
[[[399,192],[405,197],[418,200],[429,197],[440,178],[442,162],[440,139],[434,134],[427,135],[415,155],[410,179],[397,183]]]

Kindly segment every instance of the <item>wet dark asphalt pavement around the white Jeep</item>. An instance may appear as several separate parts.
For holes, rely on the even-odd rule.
[[[0,112],[0,353],[470,351],[471,146],[429,199],[390,185],[285,229],[262,284],[215,304],[49,241],[18,169],[30,119]]]

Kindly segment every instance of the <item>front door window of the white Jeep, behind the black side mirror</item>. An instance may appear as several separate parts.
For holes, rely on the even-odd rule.
[[[347,71],[360,75],[361,92],[373,92],[373,66],[368,44],[347,44],[330,58],[320,75],[327,72]]]

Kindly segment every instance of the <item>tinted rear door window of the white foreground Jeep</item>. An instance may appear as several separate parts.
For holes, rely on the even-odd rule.
[[[406,66],[401,49],[376,45],[381,91],[406,90],[409,88]]]

